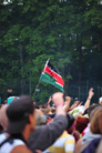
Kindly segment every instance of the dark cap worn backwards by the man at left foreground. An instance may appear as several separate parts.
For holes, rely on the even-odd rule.
[[[33,101],[28,95],[16,99],[7,109],[9,119],[8,132],[10,134],[21,133],[29,123],[29,114],[33,113]]]

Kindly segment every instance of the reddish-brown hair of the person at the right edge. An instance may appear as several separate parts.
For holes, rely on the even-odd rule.
[[[92,118],[90,124],[92,133],[102,134],[102,106],[94,109],[94,113],[92,111]]]

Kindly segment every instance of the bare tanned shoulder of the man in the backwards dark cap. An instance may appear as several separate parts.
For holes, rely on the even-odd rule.
[[[32,153],[26,145],[18,145],[13,147],[11,153]]]

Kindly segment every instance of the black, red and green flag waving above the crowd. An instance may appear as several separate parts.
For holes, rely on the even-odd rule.
[[[49,60],[45,63],[45,67],[41,73],[40,81],[50,83],[54,85],[55,88],[60,89],[62,92],[63,90],[63,79],[62,76],[57,72],[54,67],[49,62]]]

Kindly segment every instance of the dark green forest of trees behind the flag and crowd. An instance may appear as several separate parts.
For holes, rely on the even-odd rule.
[[[47,59],[58,69],[65,94],[84,101],[102,95],[101,0],[0,0],[0,96],[32,96]],[[41,82],[34,99],[58,91]]]

